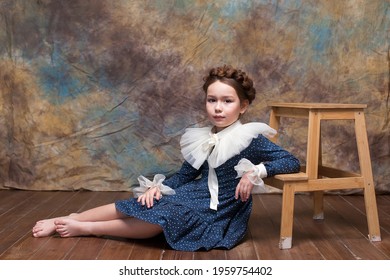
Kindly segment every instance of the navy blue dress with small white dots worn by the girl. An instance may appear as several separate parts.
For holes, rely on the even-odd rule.
[[[242,126],[245,125],[238,124],[239,128]],[[237,143],[232,139],[239,138],[236,133],[240,131],[233,129],[228,132],[233,136],[228,146]],[[229,158],[223,159],[220,164],[205,160],[195,168],[193,158],[183,153],[186,161],[181,169],[163,182],[172,188],[175,194],[163,195],[160,200],[154,201],[152,208],[142,206],[135,198],[119,200],[115,202],[117,210],[128,216],[160,225],[168,244],[176,250],[196,251],[234,247],[245,236],[252,209],[251,198],[246,202],[235,199],[240,178],[237,178],[234,167],[239,161],[246,158],[254,165],[263,163],[268,177],[299,171],[299,161],[296,157],[258,132],[256,134],[254,138],[249,137],[248,145],[243,144],[246,147],[239,148],[239,153],[230,148],[229,151],[232,152],[225,154]],[[201,143],[203,151],[204,143],[204,141]],[[218,145],[214,143],[211,150],[217,148]],[[210,150],[207,154],[210,158]],[[218,156],[221,157],[224,155]],[[192,164],[189,161],[192,161]],[[210,165],[213,165],[212,169],[218,182],[218,205],[215,209],[210,207]]]

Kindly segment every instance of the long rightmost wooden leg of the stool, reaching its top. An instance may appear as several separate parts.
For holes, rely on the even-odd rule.
[[[368,237],[370,241],[381,241],[375,186],[372,176],[371,158],[363,112],[355,113],[355,133],[359,154],[360,172],[364,178],[364,202],[368,223]]]

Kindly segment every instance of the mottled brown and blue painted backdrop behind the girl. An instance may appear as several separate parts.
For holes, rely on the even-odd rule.
[[[388,0],[1,0],[0,188],[129,190],[172,174],[203,126],[202,77],[232,64],[267,103],[366,103],[376,188],[390,190]],[[306,126],[282,144],[302,161]],[[347,124],[347,126],[345,126]],[[351,124],[324,162],[356,170]]]

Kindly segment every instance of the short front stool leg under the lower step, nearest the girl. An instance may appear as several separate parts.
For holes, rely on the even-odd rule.
[[[283,186],[282,221],[280,225],[280,249],[290,249],[292,246],[292,231],[294,221],[294,186]]]

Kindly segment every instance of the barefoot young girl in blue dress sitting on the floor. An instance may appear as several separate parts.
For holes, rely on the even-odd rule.
[[[164,233],[176,250],[235,246],[247,229],[253,187],[261,187],[262,178],[298,172],[299,161],[265,137],[276,133],[266,124],[240,122],[256,94],[245,72],[216,67],[204,82],[213,126],[186,130],[180,141],[185,161],[175,175],[158,174],[153,182],[140,176],[138,197],[38,221],[33,236],[150,238]]]

